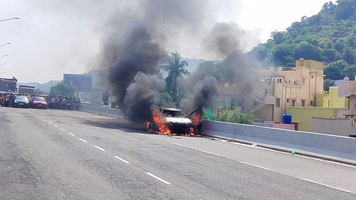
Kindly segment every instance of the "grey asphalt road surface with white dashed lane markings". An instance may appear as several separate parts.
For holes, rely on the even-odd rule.
[[[80,111],[0,117],[0,199],[356,199],[345,164]]]

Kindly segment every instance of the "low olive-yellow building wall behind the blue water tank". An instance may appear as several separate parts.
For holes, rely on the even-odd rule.
[[[287,107],[287,113],[292,115],[292,122],[298,124],[298,131],[313,132],[313,117],[336,118],[337,107]]]

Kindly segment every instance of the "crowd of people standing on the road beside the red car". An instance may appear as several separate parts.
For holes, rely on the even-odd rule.
[[[51,96],[48,103],[49,109],[78,110],[80,106],[80,98],[76,99],[64,96]]]

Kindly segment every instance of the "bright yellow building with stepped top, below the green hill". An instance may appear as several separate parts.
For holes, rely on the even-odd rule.
[[[316,107],[349,107],[349,100],[338,96],[338,87],[329,87],[329,94],[316,94]]]

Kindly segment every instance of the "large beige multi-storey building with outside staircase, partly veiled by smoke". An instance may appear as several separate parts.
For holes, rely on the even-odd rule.
[[[249,91],[237,83],[219,83],[222,103],[248,108],[259,121],[282,123],[287,106],[316,106],[316,94],[323,94],[323,68],[322,62],[301,58],[295,67],[256,69]]]

